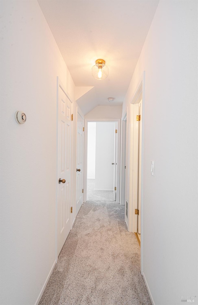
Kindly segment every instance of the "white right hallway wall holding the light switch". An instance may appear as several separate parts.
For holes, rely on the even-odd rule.
[[[144,70],[143,271],[156,305],[178,305],[198,296],[197,1],[159,2],[123,114]]]

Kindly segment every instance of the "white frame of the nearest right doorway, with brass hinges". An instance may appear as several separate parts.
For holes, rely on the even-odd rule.
[[[137,221],[135,220],[135,208],[137,202],[133,202],[133,190],[135,189],[135,183],[133,179],[134,169],[133,169],[133,117],[134,117],[134,104],[139,103],[142,99],[142,116],[141,116],[141,127],[142,127],[142,138],[141,138],[141,183],[140,183],[140,193],[141,193],[141,273],[143,273],[143,242],[144,242],[144,229],[143,229],[143,164],[144,164],[144,103],[145,103],[145,71],[136,87],[135,93],[133,94],[131,105],[130,105],[130,128],[129,128],[129,213],[128,213],[128,230],[129,232],[137,232]],[[129,120],[128,120],[129,121]]]

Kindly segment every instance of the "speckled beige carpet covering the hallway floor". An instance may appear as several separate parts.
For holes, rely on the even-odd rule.
[[[39,305],[151,305],[140,273],[140,247],[127,232],[124,207],[112,191],[94,191],[82,205]]]

